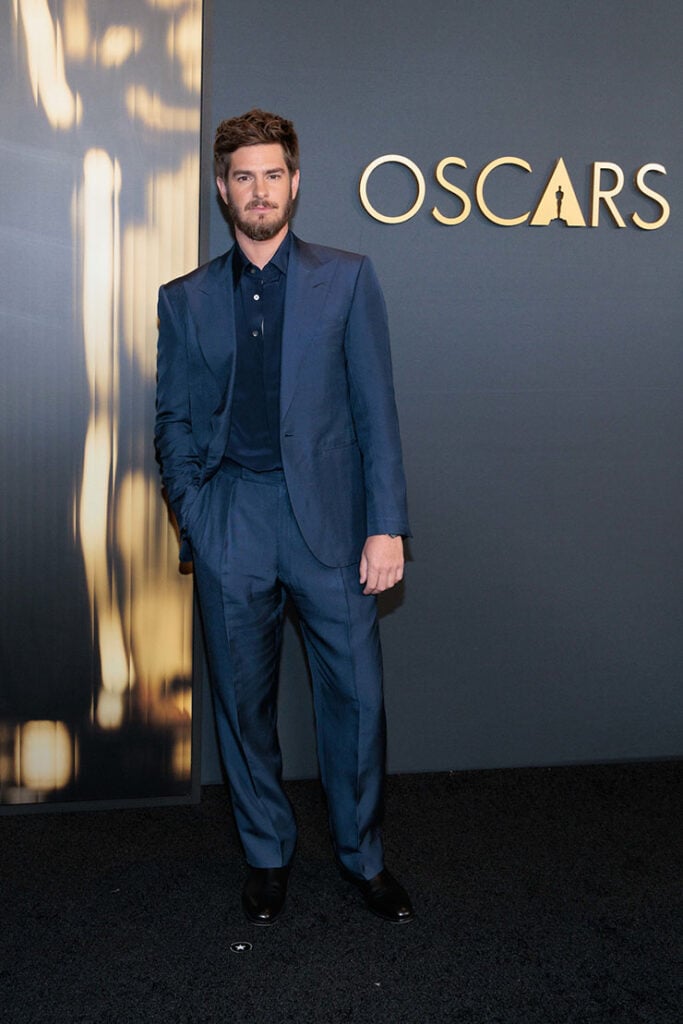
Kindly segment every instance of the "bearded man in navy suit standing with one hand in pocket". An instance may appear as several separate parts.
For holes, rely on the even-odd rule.
[[[283,607],[301,623],[317,755],[343,877],[403,924],[384,866],[376,595],[402,577],[405,484],[384,301],[364,256],[290,231],[290,121],[223,121],[216,184],[236,245],[159,299],[156,439],[194,560],[250,922],[285,903],[296,842],[275,724]]]

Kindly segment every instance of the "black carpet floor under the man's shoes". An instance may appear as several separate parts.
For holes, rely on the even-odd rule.
[[[681,763],[394,776],[418,919],[339,878],[315,782],[272,928],[240,909],[221,787],[197,807],[0,820],[0,1017],[50,1022],[680,1024]],[[233,952],[231,943],[252,943]]]

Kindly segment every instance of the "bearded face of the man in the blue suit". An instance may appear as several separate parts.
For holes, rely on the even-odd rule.
[[[236,150],[223,178],[216,178],[236,230],[254,242],[282,231],[292,216],[299,172],[290,174],[280,142]]]

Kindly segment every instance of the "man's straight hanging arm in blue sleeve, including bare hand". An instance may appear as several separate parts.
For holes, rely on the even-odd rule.
[[[402,538],[410,536],[410,525],[386,306],[367,257],[356,279],[345,351],[367,504],[359,579],[366,594],[379,594],[402,579]]]

